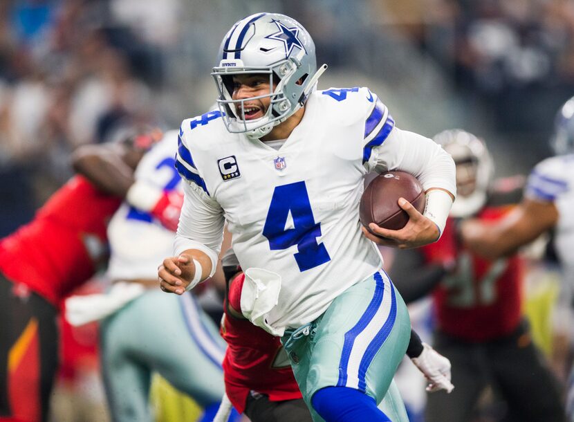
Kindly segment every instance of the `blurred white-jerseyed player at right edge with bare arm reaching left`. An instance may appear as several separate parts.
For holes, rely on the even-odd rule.
[[[573,306],[574,290],[574,98],[557,113],[551,138],[555,156],[538,163],[530,176],[524,199],[497,223],[465,221],[461,236],[467,248],[488,259],[499,259],[554,230],[554,247],[562,264],[562,307]],[[571,327],[572,313],[562,324]],[[568,417],[574,420],[572,383],[568,392]]]

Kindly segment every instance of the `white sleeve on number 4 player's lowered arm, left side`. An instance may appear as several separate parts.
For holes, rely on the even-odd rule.
[[[182,183],[184,199],[174,240],[174,255],[187,249],[201,250],[211,259],[211,277],[215,273],[223,241],[223,209],[201,187],[185,179]]]

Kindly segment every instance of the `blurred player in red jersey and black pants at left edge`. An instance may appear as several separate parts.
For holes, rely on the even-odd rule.
[[[93,169],[97,183],[74,176],[33,221],[0,240],[0,420],[46,420],[60,302],[107,262],[107,223],[154,136],[102,145],[113,160]],[[74,156],[79,172],[90,165],[89,148]]]

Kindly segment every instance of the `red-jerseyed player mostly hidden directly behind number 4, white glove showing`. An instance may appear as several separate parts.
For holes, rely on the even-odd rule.
[[[233,250],[227,250],[221,261],[226,280],[221,336],[228,342],[223,371],[225,390],[232,405],[252,422],[311,421],[311,412],[303,401],[281,341],[254,326],[241,313],[241,289],[246,276]],[[407,355],[427,377],[429,392],[452,391],[450,363],[420,342],[414,331],[411,331]],[[392,382],[379,407],[391,420],[407,421],[404,412],[392,407],[396,400],[393,397],[398,394]]]

